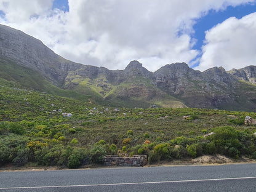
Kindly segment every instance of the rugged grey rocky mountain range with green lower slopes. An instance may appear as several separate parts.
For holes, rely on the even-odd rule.
[[[186,63],[154,73],[132,61],[124,70],[74,63],[22,31],[0,25],[0,78],[41,92],[102,105],[256,110],[256,66],[196,71]]]

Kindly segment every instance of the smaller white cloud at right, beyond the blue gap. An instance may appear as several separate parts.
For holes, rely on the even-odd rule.
[[[198,70],[223,66],[226,70],[255,65],[256,12],[241,19],[228,18],[206,32]]]

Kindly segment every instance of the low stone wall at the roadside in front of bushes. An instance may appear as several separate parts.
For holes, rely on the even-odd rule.
[[[146,155],[134,155],[132,157],[120,158],[119,156],[105,156],[105,166],[134,166],[140,167],[147,164],[148,158]]]

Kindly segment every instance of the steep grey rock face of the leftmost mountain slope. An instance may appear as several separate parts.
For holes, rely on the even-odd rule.
[[[0,58],[39,71],[56,86],[60,86],[69,70],[83,67],[46,47],[41,41],[22,31],[0,25]]]

